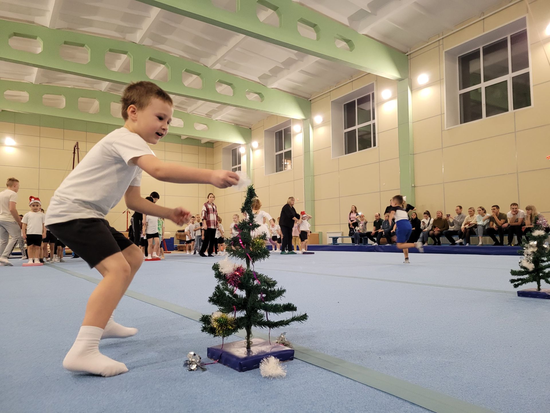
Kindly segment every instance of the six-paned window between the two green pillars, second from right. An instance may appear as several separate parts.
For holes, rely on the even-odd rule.
[[[375,94],[344,104],[344,154],[376,146]]]

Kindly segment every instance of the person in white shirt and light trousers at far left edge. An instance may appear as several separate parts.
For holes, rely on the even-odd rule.
[[[13,266],[8,256],[21,237],[21,217],[17,212],[17,192],[19,180],[8,178],[7,189],[0,192],[0,265]],[[12,240],[9,240],[12,237]]]

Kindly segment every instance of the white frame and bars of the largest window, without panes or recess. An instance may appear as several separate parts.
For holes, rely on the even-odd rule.
[[[486,119],[486,118],[492,118],[493,116],[498,116],[498,115],[503,115],[504,113],[508,113],[508,112],[514,112],[516,110],[519,110],[519,109],[523,109],[523,107],[519,108],[519,109],[514,109],[514,106],[513,106],[513,95],[512,95],[512,78],[520,75],[520,74],[524,74],[524,73],[530,73],[531,72],[531,62],[529,61],[529,66],[527,66],[525,69],[521,69],[521,70],[517,70],[516,72],[512,72],[512,56],[511,56],[511,53],[512,53],[512,50],[511,50],[511,36],[515,35],[515,34],[518,34],[519,32],[521,31],[524,31],[524,30],[527,30],[527,29],[522,29],[522,30],[519,30],[519,31],[516,31],[514,33],[510,33],[508,34],[508,36],[505,36],[505,37],[500,37],[500,39],[497,39],[495,41],[492,41],[492,42],[489,42],[487,44],[484,44],[484,45],[481,45],[479,47],[476,47],[476,48],[473,48],[472,50],[470,51],[467,51],[465,53],[462,53],[460,56],[464,56],[464,55],[467,55],[467,53],[471,53],[473,51],[476,51],[476,50],[479,50],[480,51],[480,66],[481,66],[481,83],[478,83],[477,85],[474,85],[474,86],[470,86],[469,88],[466,88],[466,89],[458,89],[458,99],[459,99],[459,103],[458,103],[458,107],[459,107],[459,111],[460,111],[460,95],[464,94],[464,93],[468,93],[472,90],[476,90],[476,89],[479,89],[481,88],[481,119],[475,119],[475,121],[481,121],[482,119]],[[491,79],[491,80],[488,80],[488,81],[483,81],[483,47],[485,46],[488,46],[488,45],[491,45],[497,41],[500,41],[500,40],[503,40],[503,39],[507,39],[507,42],[508,42],[508,74],[505,74],[499,78],[496,78],[496,79]],[[529,36],[527,36],[527,54],[529,55]],[[458,56],[456,58],[456,67],[458,68],[459,67],[459,58],[460,56]],[[459,69],[459,77],[460,77],[460,69]],[[492,86],[494,84],[497,84],[497,83],[500,83],[500,82],[503,82],[507,80],[508,83],[507,83],[507,86],[508,86],[508,111],[506,112],[503,112],[503,113],[498,113],[497,115],[492,115],[492,116],[487,116],[486,115],[486,104],[485,104],[485,88],[487,88],[487,86]],[[460,81],[460,79],[459,79]],[[531,85],[531,82],[530,82],[530,86]],[[460,86],[459,86],[460,87]],[[533,105],[533,96],[532,96],[532,92],[531,92],[531,105]],[[525,107],[529,107],[529,106],[525,106]],[[465,124],[465,123],[471,123],[471,122],[475,122],[475,121],[469,121],[469,122],[461,122],[461,116],[460,116],[460,113],[459,113],[459,121],[460,121],[460,124]]]

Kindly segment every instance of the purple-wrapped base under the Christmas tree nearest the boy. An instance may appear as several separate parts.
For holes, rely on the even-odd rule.
[[[246,350],[246,340],[226,343],[223,350],[221,344],[207,349],[208,358],[241,372],[259,368],[260,361],[267,356],[281,361],[293,360],[294,350],[263,339],[252,339],[250,350]]]

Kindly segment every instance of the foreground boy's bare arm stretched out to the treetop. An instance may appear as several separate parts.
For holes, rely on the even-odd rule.
[[[227,188],[239,182],[239,176],[235,172],[167,164],[155,155],[136,156],[132,161],[153,178],[164,182],[210,183],[217,188]]]

